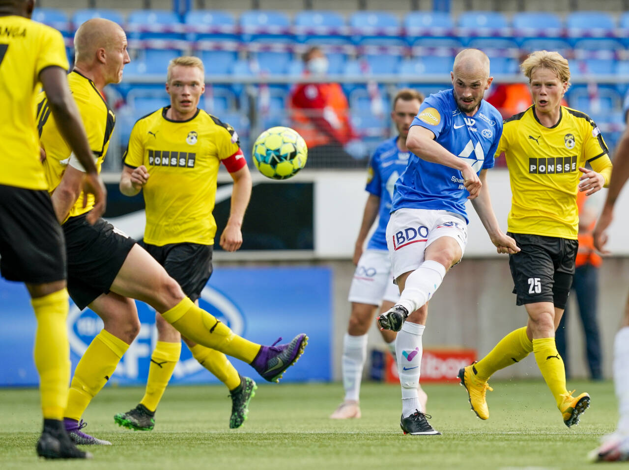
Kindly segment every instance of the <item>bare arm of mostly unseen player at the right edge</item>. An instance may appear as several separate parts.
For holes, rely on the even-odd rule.
[[[598,249],[602,253],[608,253],[603,251],[605,243],[607,243],[607,227],[610,226],[613,220],[614,205],[620,195],[620,191],[629,178],[629,128],[625,128],[625,132],[618,142],[616,147],[616,156],[614,158],[614,169],[611,172],[610,189],[607,192],[607,198],[601,211],[601,216],[596,222],[594,227],[594,248]]]

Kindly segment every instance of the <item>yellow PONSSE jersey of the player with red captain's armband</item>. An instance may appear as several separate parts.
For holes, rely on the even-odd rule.
[[[169,107],[135,123],[123,157],[125,165],[144,165],[150,175],[143,187],[144,241],[211,245],[218,167],[240,152],[238,134],[201,109],[187,121],[172,121],[166,117]]]

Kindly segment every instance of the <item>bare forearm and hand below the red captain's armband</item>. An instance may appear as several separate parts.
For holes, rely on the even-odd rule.
[[[245,210],[247,210],[247,205],[251,198],[252,182],[251,173],[249,173],[247,165],[235,172],[230,172],[230,175],[234,180],[234,187],[231,190],[230,218],[223,233],[221,233],[220,244],[225,251],[236,251],[242,246],[241,227],[245,217]]]

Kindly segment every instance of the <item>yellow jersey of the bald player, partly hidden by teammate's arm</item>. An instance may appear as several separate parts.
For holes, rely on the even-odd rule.
[[[109,147],[109,137],[111,137],[116,123],[116,116],[109,109],[107,102],[96,89],[92,80],[73,70],[68,75],[68,84],[72,97],[79,108],[89,147],[96,158],[96,170],[100,173]],[[81,165],[77,166],[77,163],[72,164],[74,161],[70,161],[75,157],[72,154],[72,149],[59,132],[55,119],[50,115],[50,107],[45,93],[40,93],[37,97],[35,112],[41,145],[46,151],[43,167],[48,182],[48,191],[52,193],[59,185],[69,163],[79,170],[83,168]],[[70,209],[69,217],[80,216],[94,207],[94,195],[87,195],[86,207],[83,207],[84,197],[84,193],[81,192],[79,199]]]

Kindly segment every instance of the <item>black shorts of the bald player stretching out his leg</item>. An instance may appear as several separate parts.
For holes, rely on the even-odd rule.
[[[70,217],[62,226],[68,256],[68,292],[84,309],[109,288],[135,240],[103,219],[94,225],[87,214]]]

